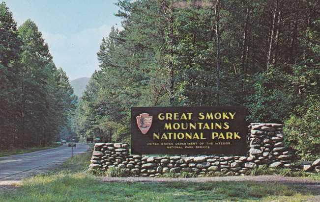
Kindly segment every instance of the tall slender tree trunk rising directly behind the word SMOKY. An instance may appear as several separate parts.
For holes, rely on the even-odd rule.
[[[220,0],[215,0],[215,16],[216,16],[216,22],[215,22],[215,31],[216,31],[216,64],[217,64],[217,100],[216,105],[219,105],[219,99],[220,99],[220,30],[219,30],[219,24],[220,24]]]

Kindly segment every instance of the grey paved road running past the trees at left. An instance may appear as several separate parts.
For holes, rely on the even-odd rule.
[[[77,143],[73,154],[84,153],[88,150],[85,144]],[[71,148],[63,145],[58,148],[34,151],[30,153],[0,157],[0,181],[20,180],[34,173],[42,173],[71,157]]]

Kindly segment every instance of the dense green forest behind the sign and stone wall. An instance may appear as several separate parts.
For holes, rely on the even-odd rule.
[[[318,0],[118,0],[79,102],[80,139],[130,141],[132,106],[244,105],[320,155]]]

